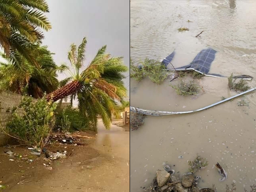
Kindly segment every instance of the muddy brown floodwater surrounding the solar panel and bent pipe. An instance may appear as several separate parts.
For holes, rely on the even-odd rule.
[[[188,22],[190,20],[191,22]],[[178,32],[181,26],[189,31]],[[195,38],[202,30],[200,38]],[[175,67],[189,64],[207,46],[217,53],[210,73],[230,76],[247,74],[256,87],[256,1],[254,0],[171,0],[130,3],[130,53],[139,59],[163,59],[174,49]],[[177,81],[166,79],[161,85],[148,78],[131,79],[131,106],[163,111],[188,111],[208,106],[236,93],[228,88],[227,78],[204,77],[198,98],[178,96],[169,86]],[[194,114],[147,116],[145,124],[130,136],[130,190],[141,192],[156,175],[170,164],[182,176],[188,160],[196,153],[209,165],[198,171],[200,187],[215,184],[224,191],[236,182],[237,191],[256,183],[256,93],[247,94],[249,107],[238,106],[239,98]],[[179,159],[178,156],[183,158]],[[214,165],[219,162],[228,179],[219,182]],[[175,166],[174,166],[175,165]]]

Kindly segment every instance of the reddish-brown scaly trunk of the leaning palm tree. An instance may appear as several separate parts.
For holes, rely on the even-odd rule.
[[[46,95],[46,99],[52,100],[53,102],[63,99],[66,96],[75,94],[82,88],[82,84],[78,80],[74,80],[70,82],[69,84],[66,84],[65,86],[49,93]]]

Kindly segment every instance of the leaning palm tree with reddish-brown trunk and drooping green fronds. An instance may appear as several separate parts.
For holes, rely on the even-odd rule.
[[[90,119],[91,125],[96,130],[97,115],[102,117],[106,128],[110,127],[111,114],[117,113],[120,105],[126,98],[126,88],[122,79],[122,72],[128,69],[122,64],[122,58],[111,58],[106,54],[106,46],[98,50],[90,64],[83,68],[85,60],[86,38],[76,47],[70,46],[68,59],[74,68],[70,74],[72,78],[65,80],[65,86],[47,95],[48,100],[59,100],[70,96],[71,101],[78,98],[78,108],[81,114]],[[72,81],[71,81],[72,80]],[[71,81],[71,82],[70,82]]]

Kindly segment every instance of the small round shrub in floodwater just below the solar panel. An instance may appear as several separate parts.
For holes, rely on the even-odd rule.
[[[197,95],[200,90],[199,86],[194,81],[180,80],[178,86],[170,85],[176,90],[178,95]]]

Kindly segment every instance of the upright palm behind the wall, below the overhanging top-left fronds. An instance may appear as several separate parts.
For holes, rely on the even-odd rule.
[[[0,89],[17,94],[28,94],[41,98],[44,92],[50,93],[58,88],[57,72],[66,70],[66,66],[57,66],[47,46],[37,49],[39,57],[36,62],[39,67],[23,59],[22,68],[9,63],[0,63]],[[8,58],[2,54],[2,57]]]

